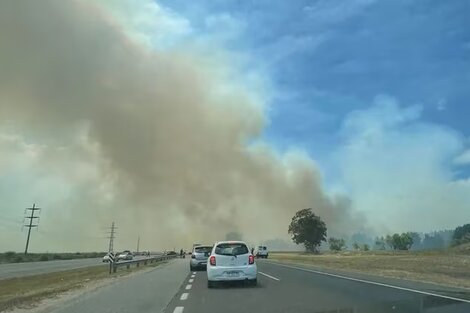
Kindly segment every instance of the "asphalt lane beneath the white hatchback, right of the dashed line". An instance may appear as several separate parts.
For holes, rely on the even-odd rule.
[[[470,312],[470,300],[440,296],[409,286],[317,273],[269,261],[257,264],[256,287],[231,283],[208,289],[205,272],[188,274],[166,312]]]

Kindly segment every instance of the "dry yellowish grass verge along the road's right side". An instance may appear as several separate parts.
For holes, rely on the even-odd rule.
[[[341,252],[312,255],[272,253],[281,262],[310,264],[384,277],[435,283],[470,289],[470,255],[457,250],[423,252]]]

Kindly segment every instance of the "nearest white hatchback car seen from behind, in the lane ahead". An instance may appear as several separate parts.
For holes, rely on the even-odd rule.
[[[256,286],[258,269],[255,257],[243,241],[214,244],[207,262],[207,287],[220,281],[247,281]]]

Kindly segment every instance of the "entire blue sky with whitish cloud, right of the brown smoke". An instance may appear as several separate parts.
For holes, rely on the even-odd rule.
[[[158,3],[266,79],[264,140],[306,151],[330,192],[385,228],[413,227],[400,214],[428,213],[421,230],[453,227],[445,210],[470,219],[468,1]]]

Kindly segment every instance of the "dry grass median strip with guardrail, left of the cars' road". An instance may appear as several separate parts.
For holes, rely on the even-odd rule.
[[[0,312],[14,308],[28,308],[38,301],[57,296],[69,290],[85,287],[97,281],[112,280],[129,273],[148,269],[160,263],[148,266],[131,267],[110,275],[108,267],[93,266],[62,272],[40,274],[27,277],[10,278],[0,281]]]

